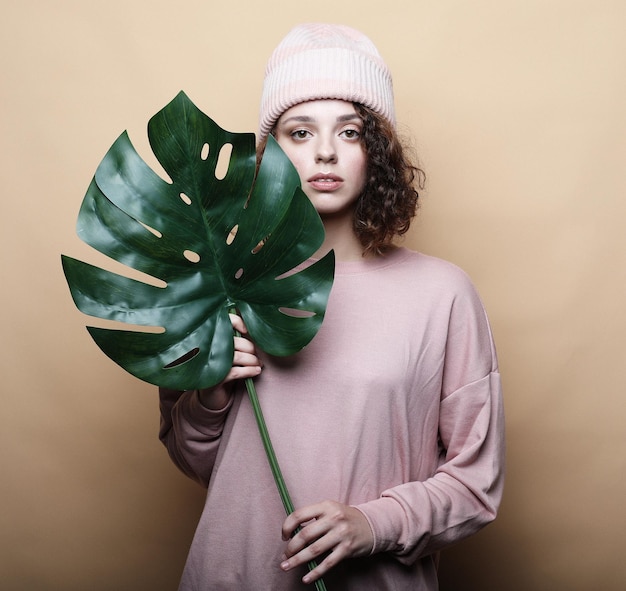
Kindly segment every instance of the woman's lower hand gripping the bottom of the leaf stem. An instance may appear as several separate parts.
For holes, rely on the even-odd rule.
[[[298,526],[302,529],[294,535]],[[367,556],[374,546],[374,535],[363,513],[334,501],[294,511],[283,523],[283,539],[289,540],[280,565],[285,571],[329,553],[304,576],[305,583],[316,581],[345,558]]]

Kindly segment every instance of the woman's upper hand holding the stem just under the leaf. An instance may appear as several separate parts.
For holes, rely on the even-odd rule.
[[[233,329],[242,335],[234,337],[235,354],[233,356],[233,365],[224,380],[217,386],[198,390],[202,406],[211,410],[220,410],[228,404],[235,380],[254,378],[261,373],[263,367],[260,359],[257,357],[254,343],[243,336],[248,333],[248,329],[241,316],[231,314],[230,321]]]

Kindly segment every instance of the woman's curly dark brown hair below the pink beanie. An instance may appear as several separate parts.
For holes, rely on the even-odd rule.
[[[355,205],[353,229],[363,256],[381,255],[408,231],[418,209],[417,189],[426,177],[408,157],[395,127],[372,109],[353,104],[363,122],[360,139],[367,157],[367,180]],[[257,164],[266,143],[267,137],[257,147]]]

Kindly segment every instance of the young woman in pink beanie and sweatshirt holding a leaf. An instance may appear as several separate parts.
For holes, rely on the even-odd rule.
[[[457,267],[394,245],[421,171],[395,131],[391,77],[344,26],[296,27],[261,103],[337,265],[324,324],[272,358],[234,327],[219,386],[161,390],[160,436],[208,487],[182,590],[435,590],[437,553],[494,519],[503,415],[485,311]],[[241,378],[255,377],[295,512],[284,515]],[[302,529],[296,533],[299,526]],[[308,572],[306,564],[318,567]]]

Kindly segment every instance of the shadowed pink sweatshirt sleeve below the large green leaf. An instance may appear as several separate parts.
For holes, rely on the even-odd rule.
[[[159,388],[159,398],[159,439],[184,474],[208,486],[232,399],[225,408],[214,411],[201,404],[196,390]]]

